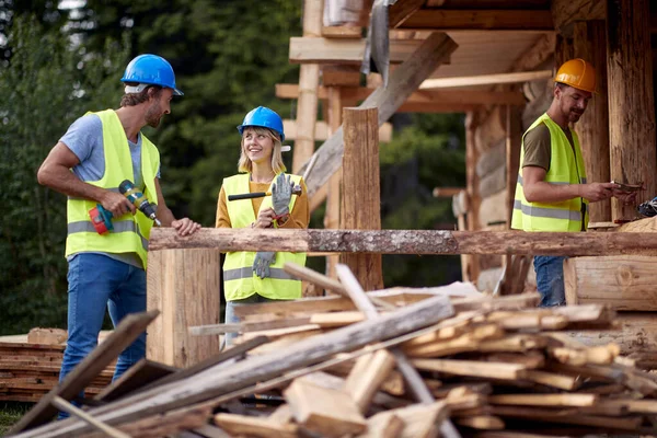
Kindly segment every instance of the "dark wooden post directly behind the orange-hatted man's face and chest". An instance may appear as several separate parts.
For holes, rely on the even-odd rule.
[[[575,125],[581,154],[586,164],[586,175],[591,183],[611,181],[609,175],[609,105],[607,93],[607,43],[606,25],[602,20],[575,23],[575,57],[586,59],[596,68],[597,93]],[[600,200],[589,204],[591,222],[611,221],[611,201]]]

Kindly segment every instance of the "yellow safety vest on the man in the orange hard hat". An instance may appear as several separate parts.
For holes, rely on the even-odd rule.
[[[550,129],[551,160],[545,181],[551,184],[586,184],[586,169],[579,139],[570,129],[573,146],[563,129],[548,114],[539,117],[527,132],[545,124]],[[588,200],[573,198],[561,203],[529,203],[522,191],[522,163],[525,161],[525,136],[520,150],[520,170],[516,183],[516,199],[511,228],[525,231],[583,231],[588,227]],[[583,216],[584,214],[584,216]]]

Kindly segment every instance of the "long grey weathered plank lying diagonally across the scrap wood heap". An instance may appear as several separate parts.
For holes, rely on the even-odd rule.
[[[254,391],[249,385],[255,382],[278,377],[284,371],[289,372],[320,362],[337,353],[358,349],[377,341],[392,339],[441,321],[452,313],[447,298],[429,298],[382,315],[374,321],[365,321],[298,342],[285,350],[277,350],[267,356],[250,357],[206,378],[196,376],[176,385],[158,388],[157,395],[140,393],[125,397],[120,407],[108,405],[101,408],[103,410],[102,414],[95,410],[90,413],[100,420],[114,425],[114,422],[129,423],[142,418],[147,414],[154,415],[208,401],[240,389]],[[284,378],[283,381],[286,379],[288,378]],[[275,384],[280,384],[280,381],[277,379]],[[205,405],[203,406],[205,408]],[[48,436],[50,438],[70,436],[71,433],[81,428],[82,425],[79,423],[68,423],[67,427],[58,425],[57,430]],[[39,433],[42,431],[39,430]]]

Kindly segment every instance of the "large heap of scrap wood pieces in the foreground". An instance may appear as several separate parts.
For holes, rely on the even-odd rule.
[[[586,347],[566,335],[614,328],[612,310],[537,309],[535,293],[492,298],[457,284],[366,295],[349,275],[343,267],[343,283],[330,285],[343,297],[250,304],[238,310],[239,327],[191,330],[243,334],[205,364],[88,413],[139,437],[654,430],[657,376],[620,357],[614,345]],[[71,418],[20,436],[90,434],[101,436]]]

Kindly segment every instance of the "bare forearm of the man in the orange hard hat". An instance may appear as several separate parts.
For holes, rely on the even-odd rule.
[[[612,183],[551,184],[545,182],[548,172],[543,168],[522,168],[522,191],[530,203],[560,203],[573,198],[586,198],[590,203],[609,199],[616,187]]]

